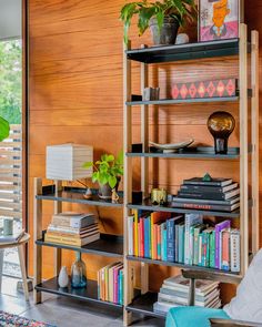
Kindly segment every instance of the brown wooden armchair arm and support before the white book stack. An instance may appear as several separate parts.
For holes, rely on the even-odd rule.
[[[182,269],[182,275],[184,278],[190,279],[190,288],[189,288],[189,306],[194,305],[194,293],[195,293],[195,280],[196,279],[208,279],[208,280],[214,280],[214,282],[221,282],[221,283],[228,283],[228,284],[240,284],[241,277],[236,275],[230,275],[230,274],[221,274],[215,272],[203,272],[198,269]]]

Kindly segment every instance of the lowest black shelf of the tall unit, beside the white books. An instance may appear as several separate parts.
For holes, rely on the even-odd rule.
[[[132,303],[125,307],[125,310],[164,319],[164,314],[153,311],[153,304],[155,302],[158,302],[158,293],[148,292],[143,295],[137,296]]]

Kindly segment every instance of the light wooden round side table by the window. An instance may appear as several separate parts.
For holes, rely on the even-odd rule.
[[[29,293],[28,293],[28,276],[27,276],[27,269],[26,269],[26,260],[24,260],[24,251],[23,246],[26,243],[28,243],[30,239],[29,234],[24,234],[23,237],[19,242],[13,243],[0,243],[0,292],[2,286],[2,266],[3,266],[3,254],[6,248],[17,247],[18,248],[18,256],[19,256],[19,263],[20,263],[20,269],[22,275],[22,282],[23,282],[23,292],[26,300],[29,300]]]

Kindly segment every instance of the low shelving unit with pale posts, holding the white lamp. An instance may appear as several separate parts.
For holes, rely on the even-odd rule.
[[[97,195],[97,190],[92,190],[92,200],[83,197],[84,188],[62,186],[61,181],[56,181],[52,185],[43,186],[42,178],[34,178],[34,303],[39,304],[42,299],[42,293],[50,293],[63,297],[80,299],[87,303],[95,303],[104,306],[111,306],[122,309],[122,305],[104,302],[98,297],[98,282],[88,280],[87,288],[61,288],[58,285],[58,275],[61,268],[62,251],[78,251],[90,255],[100,255],[104,257],[115,258],[115,260],[123,259],[123,236],[100,234],[100,239],[89,243],[82,247],[56,244],[44,241],[46,231],[42,229],[42,202],[52,202],[54,213],[62,212],[62,203],[84,204],[88,206],[107,206],[115,210],[122,210],[123,201],[120,197],[119,203],[100,200]],[[120,193],[120,195],[122,195]],[[53,278],[42,280],[42,248],[51,247],[54,249],[54,272]]]

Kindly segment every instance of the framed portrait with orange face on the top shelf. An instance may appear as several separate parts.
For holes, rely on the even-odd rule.
[[[241,0],[199,0],[199,41],[239,38]]]

